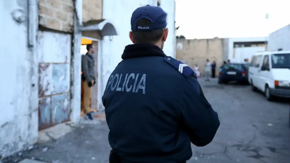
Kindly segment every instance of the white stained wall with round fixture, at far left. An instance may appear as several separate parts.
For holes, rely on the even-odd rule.
[[[27,4],[27,0],[0,1],[0,156],[25,149],[37,141],[37,106],[32,104],[38,104],[37,83],[32,82],[37,72],[31,68],[35,59],[33,48],[31,51],[27,48]],[[18,23],[11,16],[15,9],[24,11],[23,22]],[[35,46],[33,42],[31,46]]]

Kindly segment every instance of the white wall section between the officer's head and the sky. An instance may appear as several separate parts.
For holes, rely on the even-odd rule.
[[[169,30],[163,51],[167,56],[176,58],[175,0],[163,0],[160,7],[167,13],[167,28]]]

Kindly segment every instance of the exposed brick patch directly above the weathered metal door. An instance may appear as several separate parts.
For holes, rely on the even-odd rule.
[[[72,32],[73,0],[38,0],[39,24],[64,32]]]

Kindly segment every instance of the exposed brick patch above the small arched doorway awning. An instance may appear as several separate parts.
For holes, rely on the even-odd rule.
[[[102,19],[103,0],[83,0],[82,21]]]

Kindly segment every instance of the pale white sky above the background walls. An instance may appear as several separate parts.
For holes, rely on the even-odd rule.
[[[186,39],[265,37],[290,24],[289,0],[175,1],[176,35]]]

